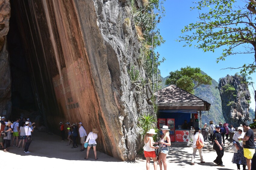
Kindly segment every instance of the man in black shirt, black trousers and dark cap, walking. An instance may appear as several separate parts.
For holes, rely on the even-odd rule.
[[[216,159],[213,161],[215,164],[217,164],[218,166],[221,167],[225,167],[225,165],[223,165],[222,162],[222,156],[224,155],[224,149],[222,148],[222,136],[220,134],[220,127],[219,125],[215,126],[215,134],[213,134],[213,138],[214,138],[214,144],[213,144],[213,149],[216,151],[217,153],[217,157]]]

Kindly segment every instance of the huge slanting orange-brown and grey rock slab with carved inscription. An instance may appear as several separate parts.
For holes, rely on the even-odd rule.
[[[59,133],[60,121],[83,122],[87,132],[99,129],[97,150],[134,160],[141,146],[138,116],[153,114],[153,108],[150,86],[138,90],[128,75],[133,65],[146,79],[128,2],[15,0],[11,5],[48,129]],[[8,89],[10,78],[5,79]]]

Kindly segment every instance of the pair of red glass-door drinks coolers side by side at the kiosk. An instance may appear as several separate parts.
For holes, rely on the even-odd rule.
[[[167,125],[170,129],[170,140],[171,142],[175,142],[175,120],[174,119],[165,119],[165,118],[159,118],[157,119],[157,128],[162,128],[163,125]],[[162,131],[160,131],[160,134],[162,135]]]

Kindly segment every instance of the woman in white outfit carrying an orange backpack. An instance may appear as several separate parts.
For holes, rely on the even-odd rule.
[[[197,150],[199,151],[201,163],[205,163],[205,161],[203,160],[203,148],[197,148],[197,146],[196,146],[196,141],[198,139],[200,140],[201,143],[204,142],[203,135],[200,133],[200,129],[198,127],[195,128],[195,132],[192,136],[192,139],[193,139],[193,144],[192,144],[193,154],[192,154],[192,159],[191,159],[191,165],[195,165],[194,160],[195,160]]]

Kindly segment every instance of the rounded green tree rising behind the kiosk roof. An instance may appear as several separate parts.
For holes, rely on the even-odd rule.
[[[176,85],[183,90],[194,94],[194,89],[200,85],[211,85],[212,78],[202,74],[199,67],[191,68],[186,66],[180,70],[170,72],[170,77],[165,82],[166,85]]]

